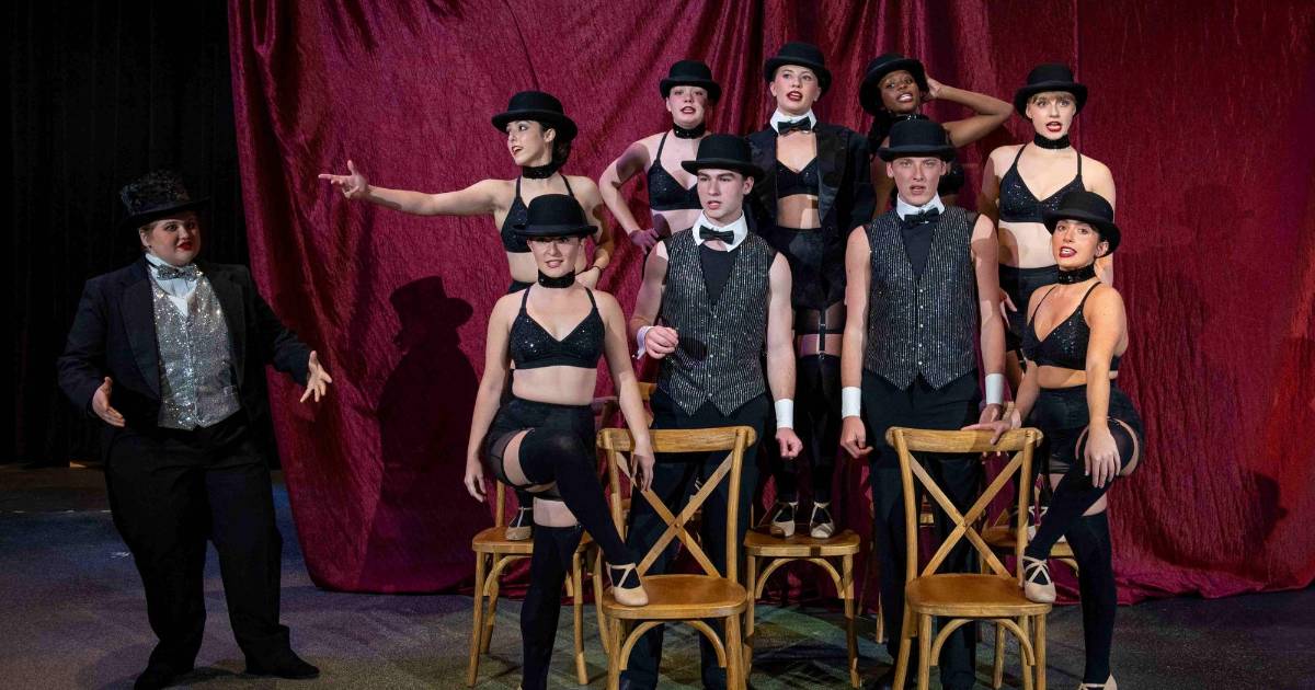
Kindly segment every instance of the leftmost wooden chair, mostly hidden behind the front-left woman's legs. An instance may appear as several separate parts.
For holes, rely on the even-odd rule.
[[[529,559],[534,551],[533,540],[512,541],[506,538],[506,524],[504,524],[504,509],[506,506],[506,488],[500,481],[493,482],[494,513],[493,527],[483,530],[471,539],[471,549],[475,551],[475,623],[471,627],[471,660],[466,673],[466,685],[475,687],[475,679],[480,670],[480,655],[488,653],[489,640],[493,637],[493,620],[497,618],[497,601],[500,582],[498,578],[506,566]],[[571,607],[575,622],[575,666],[576,681],[580,685],[589,685],[589,674],[584,665],[584,563],[583,559],[593,541],[585,532],[575,555],[571,556],[571,574],[567,578],[567,595],[571,597]],[[594,594],[597,595],[597,582]],[[600,631],[601,627],[600,616]]]

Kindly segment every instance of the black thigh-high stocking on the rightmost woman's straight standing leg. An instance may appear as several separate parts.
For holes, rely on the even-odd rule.
[[[1082,637],[1086,649],[1085,683],[1103,683],[1110,677],[1110,645],[1119,590],[1111,563],[1110,519],[1106,511],[1078,518],[1065,534],[1077,561],[1082,595]]]

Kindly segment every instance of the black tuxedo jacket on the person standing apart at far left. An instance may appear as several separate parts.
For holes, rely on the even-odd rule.
[[[254,428],[267,418],[264,365],[305,385],[310,350],[274,314],[245,265],[197,262],[224,309],[242,407]],[[133,430],[156,428],[160,409],[155,306],[145,258],[87,281],[58,361],[59,388],[87,414],[104,379],[113,380],[109,403]],[[108,428],[105,447],[120,430]]]

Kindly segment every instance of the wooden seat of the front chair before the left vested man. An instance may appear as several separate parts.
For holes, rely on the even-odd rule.
[[[656,574],[643,580],[648,593],[647,606],[622,606],[608,589],[602,594],[602,610],[609,616],[634,620],[723,618],[744,611],[748,599],[743,586],[725,577]]]

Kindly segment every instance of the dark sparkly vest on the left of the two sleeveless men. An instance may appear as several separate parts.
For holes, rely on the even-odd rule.
[[[735,248],[730,279],[714,306],[707,298],[693,231],[682,230],[665,242],[667,285],[660,314],[680,333],[680,346],[663,357],[658,388],[686,414],[710,400],[729,415],[767,389],[761,355],[768,272],[776,251],[750,233]]]

